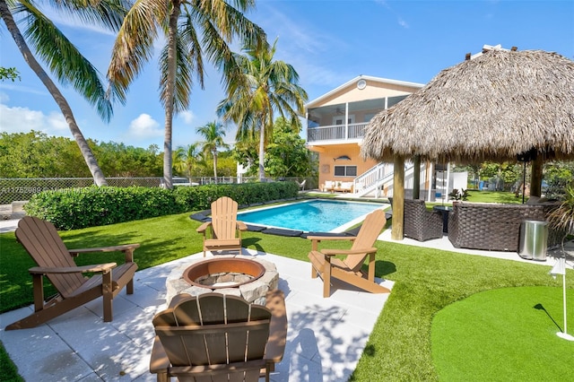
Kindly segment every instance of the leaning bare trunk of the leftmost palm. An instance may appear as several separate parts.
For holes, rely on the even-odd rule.
[[[44,69],[42,69],[36,58],[32,55],[30,48],[28,48],[26,41],[22,37],[22,33],[14,22],[12,13],[8,9],[8,5],[6,4],[5,0],[0,0],[0,14],[2,15],[2,19],[4,20],[6,27],[16,42],[16,45],[20,49],[22,56],[24,56],[24,60],[30,66],[30,69],[32,69],[32,71],[34,71],[34,73],[38,76],[44,86],[46,86],[49,93],[52,95],[52,98],[56,100],[57,106],[62,111],[62,114],[65,117],[65,121],[70,128],[70,132],[72,135],[74,135],[75,142],[78,144],[78,147],[80,147],[80,152],[82,152],[83,159],[86,161],[88,169],[90,169],[91,176],[96,183],[96,186],[108,186],[108,182],[106,182],[106,178],[104,177],[103,172],[101,172],[98,161],[96,161],[96,158],[93,156],[93,152],[91,152],[90,146],[83,137],[80,127],[78,127],[75,122],[72,108],[70,108],[70,105],[68,104],[67,100],[65,100],[64,95],[62,95],[62,93],[58,90],[56,84],[52,82],[52,80],[48,77],[48,74],[44,71]]]

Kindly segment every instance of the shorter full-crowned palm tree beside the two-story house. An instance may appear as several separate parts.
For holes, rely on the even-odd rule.
[[[253,140],[258,133],[260,181],[265,178],[265,146],[273,133],[274,113],[279,112],[295,126],[307,100],[295,69],[274,61],[276,44],[277,39],[271,48],[267,44],[247,45],[243,49],[247,56],[235,55],[242,75],[230,84],[228,97],[217,109],[224,121],[237,124],[237,141]]]

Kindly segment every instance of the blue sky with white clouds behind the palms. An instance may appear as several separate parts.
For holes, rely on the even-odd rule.
[[[271,43],[278,38],[275,58],[295,67],[309,100],[360,74],[426,83],[485,44],[574,59],[574,0],[257,0],[257,10],[248,17]],[[57,23],[105,74],[114,36],[66,20]],[[23,61],[4,22],[0,30],[0,65],[15,66],[22,77],[0,82],[0,130],[34,129],[71,138],[56,102]],[[205,89],[194,89],[189,109],[174,119],[174,147],[201,140],[196,127],[216,119],[224,94],[220,75],[212,68],[207,75]],[[86,137],[162,147],[158,83],[157,62],[151,61],[133,83],[126,105],[116,105],[109,124],[72,89],[59,88]],[[230,127],[226,141],[232,143],[233,135]]]

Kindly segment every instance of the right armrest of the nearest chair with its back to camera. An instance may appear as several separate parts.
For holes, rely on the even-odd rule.
[[[287,343],[287,310],[283,291],[268,291],[265,296],[265,308],[271,310],[269,341],[265,346],[265,359],[274,362],[283,360]]]

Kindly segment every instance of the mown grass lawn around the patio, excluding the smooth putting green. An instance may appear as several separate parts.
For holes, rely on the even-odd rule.
[[[199,222],[186,214],[113,226],[61,232],[68,247],[100,247],[139,242],[135,251],[140,269],[201,251]],[[307,261],[310,242],[247,232],[244,247]],[[431,323],[450,304],[481,291],[517,286],[561,286],[548,275],[550,267],[469,256],[426,247],[377,242],[377,276],[395,281],[353,381],[439,380],[432,359]],[[31,303],[31,260],[15,242],[13,233],[0,234],[0,310]],[[516,254],[509,253],[509,257]],[[81,256],[81,264],[109,261],[102,255]],[[118,261],[121,259],[118,258]],[[301,270],[307,272],[307,270]],[[568,278],[571,277],[568,272]],[[552,349],[544,350],[552,352]],[[1,352],[0,352],[1,356]],[[519,354],[509,354],[509,357]],[[4,359],[2,359],[4,364]],[[484,365],[485,368],[488,365]],[[574,380],[565,368],[564,380]],[[570,373],[570,374],[569,374]],[[473,376],[468,376],[472,379]]]

